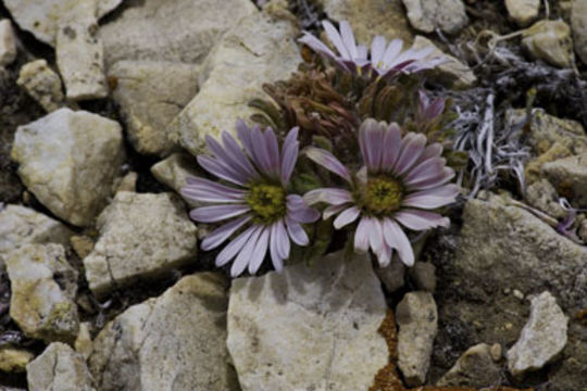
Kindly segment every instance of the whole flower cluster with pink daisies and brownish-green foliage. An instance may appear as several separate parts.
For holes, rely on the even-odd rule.
[[[300,66],[289,80],[264,86],[276,104],[251,102],[264,113],[251,119],[265,130],[239,121],[236,138],[208,136],[211,155],[198,162],[217,180],[191,177],[183,188],[209,204],[190,212],[193,220],[221,224],[201,248],[223,245],[216,265],[232,263],[233,277],[255,274],[267,254],[280,270],[294,245],[325,251],[321,227],[330,217],[354,251],[371,250],[382,267],[394,253],[411,266],[411,232],[449,225],[438,213],[459,193],[440,143],[449,102],[430,99],[419,79],[444,60],[383,37],[367,49],[347,22],[339,30],[323,26],[336,51],[308,33],[300,41],[336,67]]]

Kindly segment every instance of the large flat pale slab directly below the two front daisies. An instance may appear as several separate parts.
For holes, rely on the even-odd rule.
[[[388,362],[386,312],[364,255],[235,279],[227,345],[242,391],[367,390]]]

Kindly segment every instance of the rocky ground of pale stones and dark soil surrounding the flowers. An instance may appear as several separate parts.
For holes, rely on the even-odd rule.
[[[322,18],[451,55],[463,198],[230,280],[178,191]],[[2,0],[0,389],[587,390],[586,65],[587,0]]]

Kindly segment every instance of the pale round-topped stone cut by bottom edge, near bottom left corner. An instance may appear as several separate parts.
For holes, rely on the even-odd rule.
[[[26,366],[26,380],[30,391],[96,391],[84,357],[60,342]]]

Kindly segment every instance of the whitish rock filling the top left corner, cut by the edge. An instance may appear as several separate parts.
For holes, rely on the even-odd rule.
[[[4,0],[21,28],[48,45],[54,46],[61,23],[101,17],[122,0]]]

